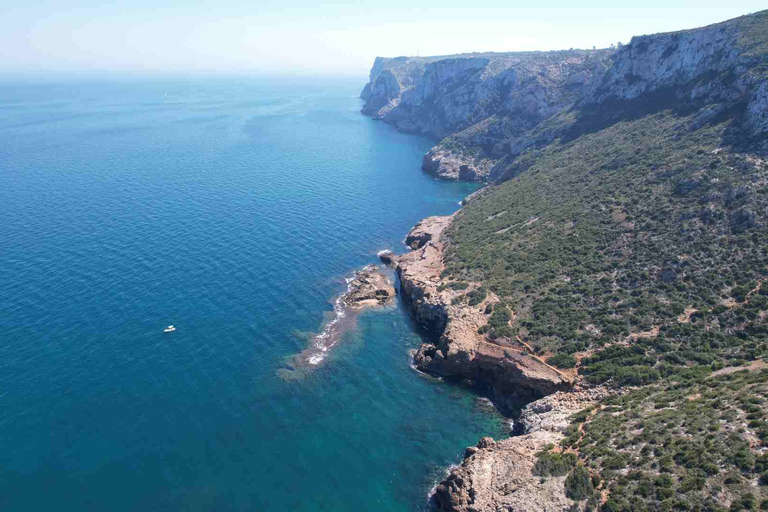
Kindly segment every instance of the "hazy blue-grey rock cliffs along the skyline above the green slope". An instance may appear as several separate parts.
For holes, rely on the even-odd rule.
[[[504,169],[541,142],[542,122],[553,116],[653,94],[743,107],[752,132],[763,134],[766,16],[634,37],[619,49],[379,57],[361,94],[363,112],[440,139],[422,168],[463,181],[507,176]],[[546,140],[563,135],[549,130]]]

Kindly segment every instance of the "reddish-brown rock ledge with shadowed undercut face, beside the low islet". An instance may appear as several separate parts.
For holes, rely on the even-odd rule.
[[[521,397],[537,398],[570,388],[571,376],[529,353],[519,341],[491,340],[479,333],[488,322],[489,305],[499,302],[493,293],[485,292],[472,305],[457,303],[457,297],[480,298],[481,292],[479,283],[451,283],[441,276],[446,244],[442,235],[451,220],[452,216],[424,219],[406,237],[413,251],[382,255],[397,270],[403,299],[414,319],[434,340],[415,352],[416,367],[487,387],[502,407],[511,407]]]

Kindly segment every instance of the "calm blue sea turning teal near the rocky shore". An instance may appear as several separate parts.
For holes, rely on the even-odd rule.
[[[399,307],[279,377],[346,275],[472,191],[362,83],[0,84],[0,509],[420,510],[503,431],[409,368]]]

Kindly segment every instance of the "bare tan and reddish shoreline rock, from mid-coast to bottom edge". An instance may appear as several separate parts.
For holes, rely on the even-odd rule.
[[[484,388],[500,410],[532,401],[515,424],[520,435],[498,441],[483,438],[467,448],[462,463],[434,488],[430,499],[438,510],[453,512],[567,510],[575,502],[563,494],[565,477],[542,482],[532,472],[535,454],[557,444],[569,417],[596,404],[608,391],[577,384],[574,375],[547,365],[517,340],[492,342],[478,334],[487,322],[487,306],[499,302],[494,294],[487,293],[474,306],[452,304],[459,293],[441,277],[446,245],[442,235],[460,214],[422,220],[405,238],[410,252],[380,255],[396,270],[413,319],[433,340],[414,351],[414,367]],[[462,293],[478,287],[468,283]]]

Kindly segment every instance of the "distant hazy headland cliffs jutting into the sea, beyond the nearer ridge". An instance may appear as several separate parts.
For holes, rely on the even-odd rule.
[[[377,58],[363,113],[399,130],[445,139],[425,157],[435,176],[483,181],[506,139],[572,104],[612,50]]]

